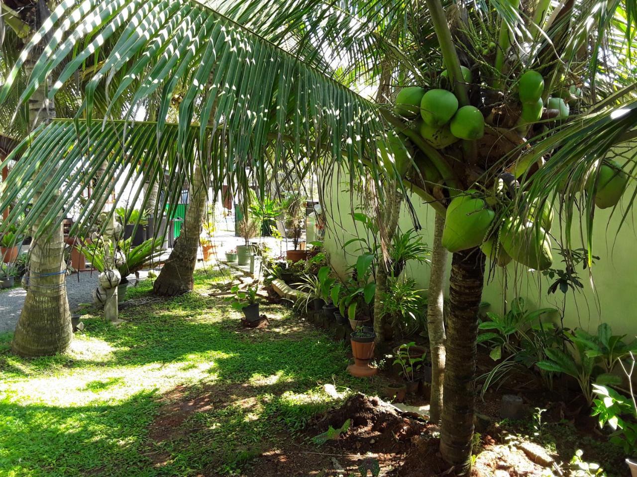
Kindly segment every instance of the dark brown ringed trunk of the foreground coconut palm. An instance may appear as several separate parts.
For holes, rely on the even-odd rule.
[[[476,247],[454,253],[451,266],[440,452],[458,475],[471,471],[476,338],[484,265],[485,255]]]

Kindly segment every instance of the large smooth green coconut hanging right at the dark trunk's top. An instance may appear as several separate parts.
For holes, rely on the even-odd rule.
[[[442,245],[450,252],[477,247],[489,233],[496,212],[487,208],[482,198],[474,198],[475,190],[455,197],[447,207]]]

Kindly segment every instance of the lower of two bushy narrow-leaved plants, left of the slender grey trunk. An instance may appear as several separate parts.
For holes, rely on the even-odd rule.
[[[385,320],[405,336],[427,330],[427,299],[422,296],[423,291],[417,287],[416,280],[399,277],[390,279],[387,292],[383,293]]]

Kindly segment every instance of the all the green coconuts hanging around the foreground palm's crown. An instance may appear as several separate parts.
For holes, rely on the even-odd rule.
[[[471,71],[464,66],[461,68],[464,82],[471,84]],[[441,73],[441,84],[449,85],[447,71]],[[529,70],[520,75],[517,95],[521,106],[518,125],[519,130],[523,131],[522,135],[526,134],[531,124],[543,118],[545,111],[545,117],[550,118],[552,124],[568,118],[569,102],[582,94],[579,88],[571,85],[549,97],[545,103],[544,91],[545,82],[540,73]],[[485,118],[480,110],[474,106],[459,107],[457,97],[448,89],[426,90],[420,86],[403,88],[397,94],[394,112],[413,121],[413,127],[420,136],[436,149],[447,148],[460,140],[481,139],[485,131]],[[406,144],[408,141],[401,134],[378,141],[379,155],[385,167],[388,170],[396,169],[403,177],[411,163]],[[512,166],[512,172],[519,177],[528,167],[530,164],[520,161]],[[594,202],[597,207],[613,207],[626,189],[627,176],[617,163],[609,160],[604,160],[598,168],[598,174],[594,174],[596,170],[590,172],[587,190],[595,186]],[[440,179],[440,173],[429,162],[423,162],[421,169],[420,172],[432,183]],[[591,181],[596,181],[596,184]],[[443,246],[450,252],[481,247],[500,266],[515,260],[534,270],[550,268],[553,257],[549,233],[553,209],[548,202],[520,202],[524,204],[524,212],[501,220],[496,218],[496,211],[487,204],[483,193],[477,190],[464,191],[452,198],[447,207]]]

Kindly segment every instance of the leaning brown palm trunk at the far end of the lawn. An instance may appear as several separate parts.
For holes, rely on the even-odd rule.
[[[190,197],[182,233],[153,286],[154,293],[161,296],[176,296],[192,290],[199,233],[208,198],[208,190],[198,163],[192,177]]]

